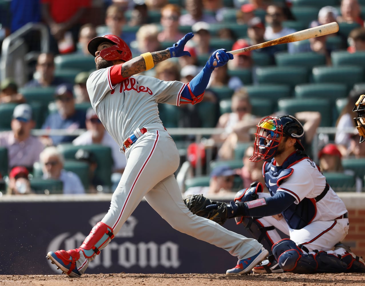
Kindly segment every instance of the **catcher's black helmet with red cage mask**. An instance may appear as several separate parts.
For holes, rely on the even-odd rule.
[[[303,125],[293,116],[266,117],[257,125],[255,146],[250,161],[264,160],[269,162],[275,156],[283,136],[296,139],[296,148],[304,151],[300,140],[304,137]]]

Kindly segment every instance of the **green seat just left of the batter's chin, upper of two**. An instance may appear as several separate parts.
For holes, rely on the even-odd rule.
[[[124,31],[124,28],[123,28]],[[89,72],[95,70],[95,58],[91,55],[62,54],[54,57],[56,70],[76,69],[78,72]]]

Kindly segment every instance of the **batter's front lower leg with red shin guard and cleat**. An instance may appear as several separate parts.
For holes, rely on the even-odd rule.
[[[66,275],[80,277],[88,267],[89,261],[92,261],[113,238],[113,229],[99,221],[79,248],[50,251],[47,259],[56,264]]]

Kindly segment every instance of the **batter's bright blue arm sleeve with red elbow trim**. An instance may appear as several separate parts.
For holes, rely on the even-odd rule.
[[[206,66],[185,86],[181,93],[181,104],[196,104],[203,100],[205,88],[207,88],[212,70]]]

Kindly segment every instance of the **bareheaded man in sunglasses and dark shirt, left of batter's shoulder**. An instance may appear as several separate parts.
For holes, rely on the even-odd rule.
[[[48,87],[64,83],[54,76],[54,56],[51,53],[41,53],[37,58],[33,79],[25,87]]]

